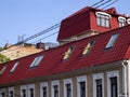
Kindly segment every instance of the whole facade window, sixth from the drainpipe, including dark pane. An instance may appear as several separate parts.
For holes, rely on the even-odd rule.
[[[40,84],[40,97],[48,97],[48,83]]]

